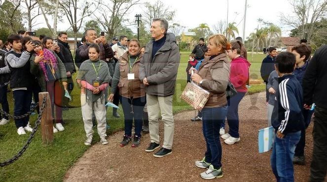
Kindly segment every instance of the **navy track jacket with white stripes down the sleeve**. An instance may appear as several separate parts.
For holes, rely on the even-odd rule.
[[[300,131],[304,128],[301,84],[294,75],[284,75],[278,83],[271,125],[285,135]]]

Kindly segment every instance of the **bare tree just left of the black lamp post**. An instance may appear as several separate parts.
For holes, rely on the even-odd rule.
[[[95,15],[109,37],[118,35],[123,23],[127,22],[126,16],[131,8],[140,3],[140,0],[106,0],[99,6],[100,15]],[[133,25],[133,23],[132,23]]]

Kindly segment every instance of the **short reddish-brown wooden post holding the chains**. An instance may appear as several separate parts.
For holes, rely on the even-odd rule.
[[[43,98],[46,97],[45,106],[43,108],[42,118],[41,118],[41,135],[43,144],[53,143],[53,118],[51,111],[51,101],[48,92],[38,93],[39,107],[42,106]]]

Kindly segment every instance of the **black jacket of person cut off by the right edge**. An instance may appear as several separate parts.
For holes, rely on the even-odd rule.
[[[327,45],[317,50],[303,77],[304,103],[327,109]]]

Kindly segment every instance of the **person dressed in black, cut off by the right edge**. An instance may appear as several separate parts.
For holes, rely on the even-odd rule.
[[[304,107],[316,104],[310,182],[324,182],[327,171],[327,45],[317,50],[303,77]]]

